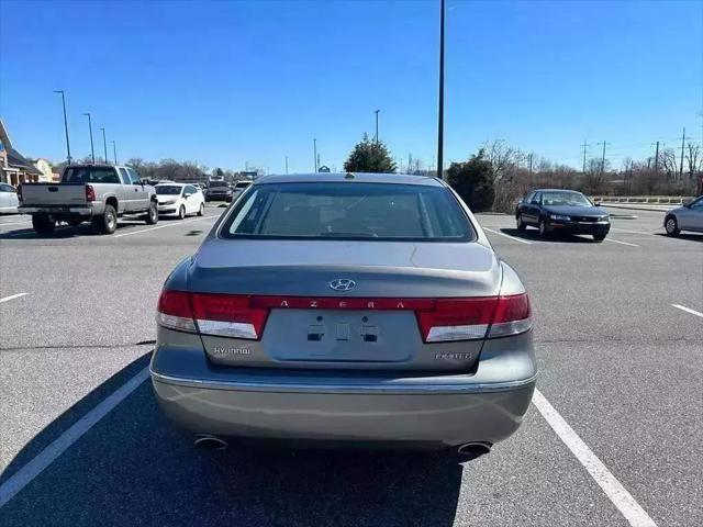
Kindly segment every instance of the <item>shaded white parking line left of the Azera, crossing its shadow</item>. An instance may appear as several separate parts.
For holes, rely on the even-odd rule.
[[[102,419],[112,408],[124,401],[140,384],[149,375],[148,367],[144,368],[136,375],[122,384],[118,390],[108,395],[94,408],[83,415],[78,422],[70,426],[60,436],[54,439],[44,450],[37,453],[32,460],[15,472],[2,485],[0,485],[0,507],[7,504],[34,478],[40,475],[44,469],[64,453],[68,447],[80,439],[96,423]]]

